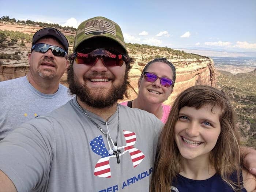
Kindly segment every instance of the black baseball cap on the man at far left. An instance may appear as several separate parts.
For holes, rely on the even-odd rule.
[[[35,45],[35,43],[39,39],[45,37],[46,35],[51,35],[53,37],[56,37],[61,42],[61,44],[64,46],[65,51],[68,52],[68,40],[67,40],[67,38],[59,30],[54,29],[52,27],[46,27],[46,28],[43,28],[43,29],[40,29],[39,31],[37,31],[33,35],[32,46]]]

